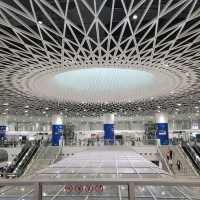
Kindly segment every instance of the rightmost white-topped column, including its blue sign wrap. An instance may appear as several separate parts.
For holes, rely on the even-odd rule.
[[[167,113],[156,113],[156,138],[160,139],[161,145],[169,144]]]

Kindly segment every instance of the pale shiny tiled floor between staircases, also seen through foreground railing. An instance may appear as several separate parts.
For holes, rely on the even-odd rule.
[[[124,147],[97,147],[68,156],[31,177],[37,179],[118,179],[118,178],[173,178],[153,163]],[[136,199],[200,199],[198,188],[176,186],[137,186]],[[31,199],[31,187],[4,187],[2,199]],[[54,185],[43,186],[44,200],[125,200],[126,185]]]

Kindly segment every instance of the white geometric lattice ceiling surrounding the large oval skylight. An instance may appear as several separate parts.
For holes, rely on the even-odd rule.
[[[124,93],[123,73],[105,85],[105,75],[89,86],[81,77],[82,92],[52,84],[84,69],[133,70],[153,82]],[[10,113],[191,112],[200,100],[200,1],[0,0],[0,77]]]

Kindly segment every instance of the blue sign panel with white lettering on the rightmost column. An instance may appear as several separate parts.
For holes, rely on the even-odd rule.
[[[168,123],[156,124],[156,138],[160,139],[161,145],[169,144]]]

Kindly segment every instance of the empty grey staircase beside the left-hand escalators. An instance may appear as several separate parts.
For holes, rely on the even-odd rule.
[[[36,171],[48,167],[53,164],[60,155],[61,148],[57,146],[41,146],[24,175],[29,176]]]

